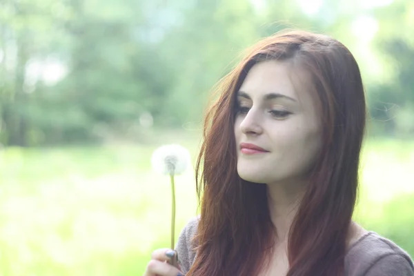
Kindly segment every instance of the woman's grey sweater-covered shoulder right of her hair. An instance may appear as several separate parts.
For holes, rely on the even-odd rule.
[[[375,232],[361,237],[345,256],[348,276],[414,276],[411,257],[400,246]]]

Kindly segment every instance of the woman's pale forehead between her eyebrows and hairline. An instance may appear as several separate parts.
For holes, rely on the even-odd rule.
[[[255,64],[244,79],[240,91],[253,100],[269,92],[296,99],[302,106],[313,104],[311,79],[302,70],[285,61],[263,61]]]

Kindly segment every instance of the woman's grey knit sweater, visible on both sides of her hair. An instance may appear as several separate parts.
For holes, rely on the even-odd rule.
[[[175,250],[178,252],[181,270],[187,273],[195,260],[191,238],[195,235],[198,217],[191,219],[181,231]],[[361,237],[345,256],[346,276],[414,276],[413,261],[402,248],[368,232]]]

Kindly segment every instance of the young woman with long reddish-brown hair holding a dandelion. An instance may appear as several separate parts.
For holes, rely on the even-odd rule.
[[[201,215],[145,276],[414,275],[402,248],[352,220],[366,103],[342,43],[279,32],[218,88],[197,162]]]

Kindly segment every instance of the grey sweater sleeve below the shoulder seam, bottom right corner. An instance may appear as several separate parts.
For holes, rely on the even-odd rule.
[[[390,254],[377,260],[366,276],[414,276],[413,262],[404,255]]]

